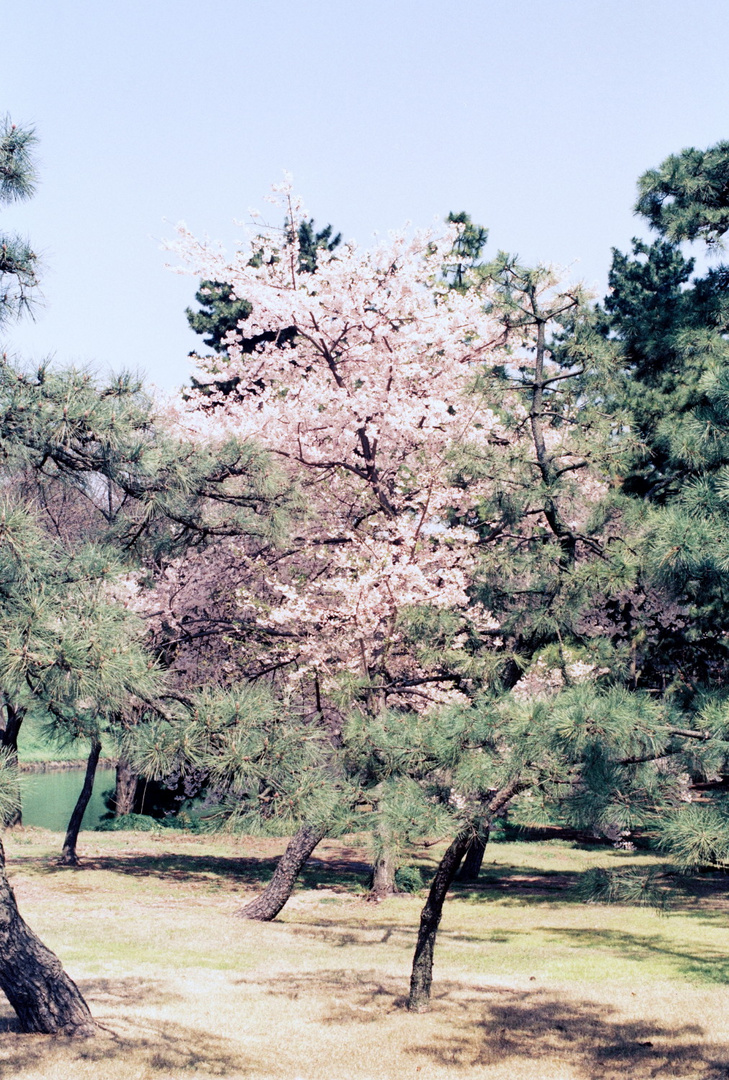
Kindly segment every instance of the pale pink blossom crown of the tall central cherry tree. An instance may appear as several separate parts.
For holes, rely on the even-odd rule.
[[[303,218],[288,183],[274,199],[288,221]],[[400,613],[470,604],[477,538],[448,524],[462,498],[449,454],[467,435],[503,437],[470,392],[474,365],[499,355],[502,329],[481,293],[443,279],[457,233],[396,233],[373,251],[343,244],[322,251],[314,272],[298,269],[296,229],[285,244],[258,230],[232,262],[184,231],[176,245],[193,273],[230,282],[252,306],[245,335],[260,343],[244,353],[231,334],[226,357],[198,360],[207,378],[197,378],[204,392],[190,396],[190,422],[257,441],[303,486],[309,521],[275,569],[241,555],[267,600],[242,584],[239,603],[295,629],[296,677],[320,694],[347,674],[383,703],[427,700],[433,679],[402,654]],[[289,327],[293,338],[279,336]]]

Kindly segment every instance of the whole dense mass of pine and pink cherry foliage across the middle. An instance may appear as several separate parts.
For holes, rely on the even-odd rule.
[[[31,146],[5,125],[0,199]],[[89,783],[106,733],[204,827],[293,834],[252,917],[327,834],[369,832],[386,892],[449,835],[415,1009],[505,813],[729,862],[729,270],[680,246],[717,246],[727,176],[723,143],[640,179],[660,235],[603,303],[465,213],[342,244],[286,181],[232,260],[180,232],[213,352],[177,397],[3,357],[4,812],[36,710]],[[3,252],[10,316],[33,256]]]

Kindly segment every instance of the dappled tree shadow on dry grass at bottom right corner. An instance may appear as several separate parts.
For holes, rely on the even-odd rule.
[[[240,984],[248,982],[240,980]],[[504,1066],[519,1076],[519,1059],[544,1059],[544,1075],[595,1080],[726,1080],[729,1047],[705,1039],[698,1024],[665,1024],[661,1020],[630,1018],[593,1001],[568,998],[550,990],[517,990],[438,981],[433,1008],[427,1016],[405,1012],[406,983],[377,971],[341,970],[269,977],[268,994],[289,1001],[320,999],[318,1022],[327,1026],[374,1025],[397,1014],[411,1025],[405,1031],[404,1052],[428,1065],[447,1068],[454,1076],[474,1067]],[[390,1028],[388,1028],[390,1030]],[[399,1028],[397,1040],[403,1040]],[[512,1074],[510,1074],[512,1075]]]

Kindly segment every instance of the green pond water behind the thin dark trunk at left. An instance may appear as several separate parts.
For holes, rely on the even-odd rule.
[[[83,786],[84,772],[85,767],[82,766],[79,769],[22,773],[23,824],[65,833]],[[81,828],[95,828],[98,825],[107,812],[104,796],[113,792],[114,783],[113,768],[97,770]]]

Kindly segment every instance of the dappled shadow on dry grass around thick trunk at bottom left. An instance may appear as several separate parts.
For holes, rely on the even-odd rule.
[[[262,1063],[244,1057],[231,1050],[226,1039],[200,1028],[174,1021],[149,1020],[108,1014],[106,1010],[138,1004],[161,1005],[174,1002],[175,995],[152,982],[136,978],[83,980],[79,987],[89,1001],[95,1018],[103,1025],[93,1039],[48,1038],[22,1035],[14,1017],[0,1017],[0,1031],[5,1038],[0,1044],[0,1076],[73,1076],[73,1066],[103,1063],[123,1056],[138,1076],[158,1076],[170,1080],[181,1074],[200,1072],[230,1077],[249,1075]],[[42,1070],[42,1071],[41,1071]]]

